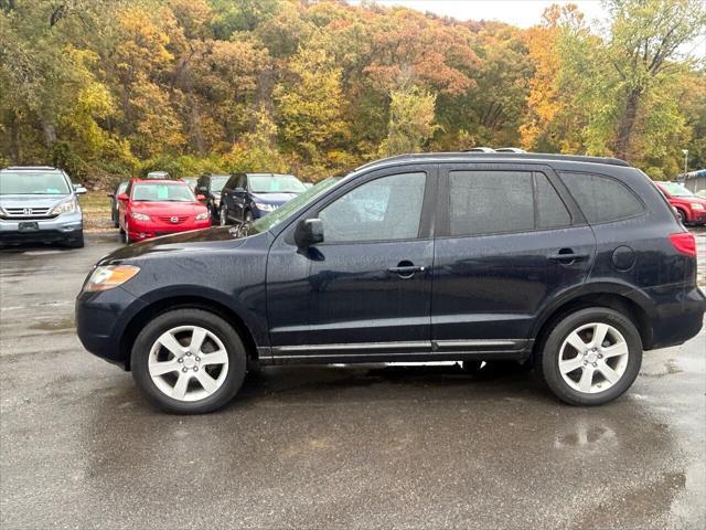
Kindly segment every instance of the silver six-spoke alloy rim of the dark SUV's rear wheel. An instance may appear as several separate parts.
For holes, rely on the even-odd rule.
[[[618,329],[603,322],[587,324],[564,340],[559,373],[578,392],[603,392],[620,381],[629,356],[628,342]]]

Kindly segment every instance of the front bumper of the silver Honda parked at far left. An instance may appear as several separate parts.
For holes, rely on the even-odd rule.
[[[20,223],[36,223],[36,230],[20,230]],[[81,212],[54,219],[0,219],[0,243],[50,243],[77,236],[84,227]]]

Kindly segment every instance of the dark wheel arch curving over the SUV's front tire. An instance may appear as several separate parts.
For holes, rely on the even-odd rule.
[[[160,298],[138,311],[127,324],[120,337],[120,358],[125,369],[130,370],[130,352],[140,330],[154,317],[174,309],[202,309],[212,312],[228,322],[239,335],[247,351],[248,364],[257,362],[257,344],[250,328],[233,308],[208,297],[197,295],[170,296]]]

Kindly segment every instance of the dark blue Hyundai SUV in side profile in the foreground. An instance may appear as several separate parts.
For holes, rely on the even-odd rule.
[[[266,364],[532,363],[574,405],[703,325],[696,248],[650,179],[603,158],[430,153],[363,166],[253,223],[103,258],[86,349],[202,413]]]

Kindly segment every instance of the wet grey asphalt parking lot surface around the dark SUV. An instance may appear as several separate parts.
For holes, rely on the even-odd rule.
[[[119,244],[0,251],[3,529],[706,526],[703,330],[597,409],[532,373],[371,365],[266,369],[223,411],[170,416],[75,336]]]

